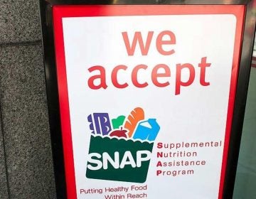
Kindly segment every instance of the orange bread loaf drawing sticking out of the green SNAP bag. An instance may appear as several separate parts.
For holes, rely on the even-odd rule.
[[[142,108],[137,107],[132,110],[132,112],[129,114],[127,121],[124,124],[124,128],[127,129],[128,137],[132,137],[132,134],[134,133],[134,130],[140,120],[144,119],[144,111]]]

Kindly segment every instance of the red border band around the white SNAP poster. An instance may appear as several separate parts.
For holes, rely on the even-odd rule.
[[[216,6],[192,6],[192,5],[159,5],[159,6],[53,6],[53,31],[55,40],[55,61],[57,65],[58,90],[60,101],[60,120],[63,137],[63,151],[65,161],[65,178],[67,182],[68,199],[76,199],[75,168],[73,158],[73,144],[70,128],[70,112],[68,102],[68,85],[65,70],[65,51],[63,41],[63,17],[81,16],[147,16],[147,15],[189,15],[189,14],[234,14],[237,18],[235,33],[235,49],[233,54],[233,69],[230,82],[230,97],[228,102],[228,115],[225,131],[225,144],[223,151],[223,163],[220,175],[220,187],[218,198],[223,198],[223,186],[225,170],[228,158],[228,146],[233,119],[235,102],[235,90],[238,80],[238,68],[240,63],[240,49],[242,45],[242,28],[245,18],[245,6],[242,5],[216,5]]]

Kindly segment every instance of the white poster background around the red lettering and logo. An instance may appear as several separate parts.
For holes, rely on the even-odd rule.
[[[218,198],[220,171],[223,158],[221,147],[186,149],[196,151],[194,159],[205,160],[205,166],[194,166],[193,175],[156,176],[156,143],[222,141],[225,138],[230,76],[235,43],[235,16],[185,15],[185,16],[105,16],[63,18],[65,63],[68,79],[70,123],[75,163],[75,183],[78,198],[105,198],[107,194],[81,194],[80,189],[107,188],[131,185],[147,185],[148,199],[156,198]],[[149,31],[154,31],[149,53],[142,56],[137,45],[133,56],[127,55],[122,32],[128,33],[129,41],[135,31],[142,32],[144,41]],[[176,36],[173,55],[161,55],[156,50],[156,37],[161,31],[172,31]],[[200,85],[201,58],[207,57],[206,82]],[[171,69],[171,77],[161,77],[160,82],[170,82],[167,87],[156,87],[151,82],[151,70],[164,63]],[[181,87],[175,95],[176,64],[191,63],[196,70],[192,85]],[[139,82],[149,86],[137,88],[132,85],[132,69],[139,64],[148,66],[139,72]],[[91,90],[87,80],[98,72],[88,68],[102,65],[106,70],[107,89]],[[112,85],[111,72],[117,65],[127,65],[120,70],[118,80],[129,86],[117,89]],[[185,71],[185,70],[184,70]],[[182,80],[188,80],[183,72]],[[90,129],[87,116],[94,112],[107,112],[111,118],[121,114],[128,116],[135,107],[142,107],[145,119],[156,118],[161,129],[156,138],[149,173],[143,184],[119,181],[94,180],[85,177],[87,154],[90,145]],[[166,149],[166,151],[169,151]],[[178,151],[178,150],[174,150]],[[180,150],[184,151],[184,150]],[[171,160],[184,158],[170,158]],[[193,158],[185,158],[193,160]],[[164,171],[188,169],[162,168]],[[132,193],[129,190],[129,193]],[[140,193],[140,192],[134,192]],[[114,194],[124,194],[122,192]]]

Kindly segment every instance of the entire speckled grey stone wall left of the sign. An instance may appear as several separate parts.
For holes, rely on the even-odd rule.
[[[55,198],[37,0],[0,0],[0,92],[0,198]]]

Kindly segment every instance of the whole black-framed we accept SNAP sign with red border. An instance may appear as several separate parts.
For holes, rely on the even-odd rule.
[[[41,1],[58,198],[232,196],[253,2],[170,2]]]

